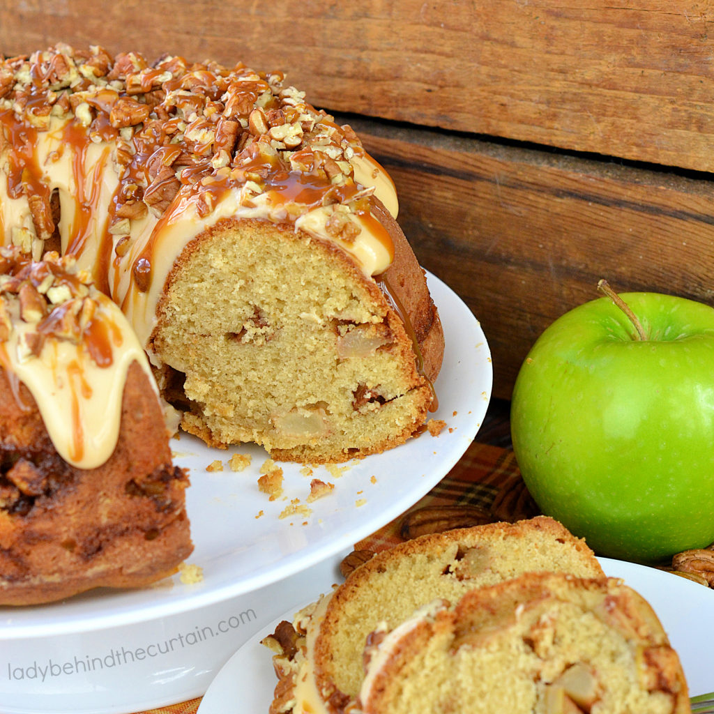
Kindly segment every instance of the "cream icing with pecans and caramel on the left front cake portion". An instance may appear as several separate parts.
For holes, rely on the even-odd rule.
[[[10,271],[0,273],[0,366],[29,389],[65,461],[101,466],[119,437],[131,363],[156,389],[146,353],[119,308],[65,273],[59,259],[31,263],[4,251],[0,263]]]

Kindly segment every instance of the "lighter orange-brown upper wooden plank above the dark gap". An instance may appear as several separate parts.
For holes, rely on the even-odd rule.
[[[24,0],[0,51],[242,60],[331,111],[713,171],[713,23],[708,0]]]

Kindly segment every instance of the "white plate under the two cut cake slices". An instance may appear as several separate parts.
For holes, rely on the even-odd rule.
[[[658,614],[670,643],[677,650],[690,695],[712,688],[711,643],[714,641],[714,593],[708,588],[645,565],[600,558],[603,570],[643,595]],[[275,622],[244,644],[226,663],[201,700],[197,714],[235,714],[241,711],[267,714],[273,700],[276,675],[272,653],[260,640],[273,633],[281,620],[292,620],[307,603],[287,610]]]

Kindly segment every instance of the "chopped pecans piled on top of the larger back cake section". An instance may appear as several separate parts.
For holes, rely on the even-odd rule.
[[[131,52],[112,57],[101,47],[57,44],[0,61],[0,120],[10,126],[14,117],[44,131],[56,116],[81,127],[90,141],[116,141],[119,218],[140,217],[147,206],[161,213],[178,191],[194,186],[202,191],[198,210],[206,213],[216,184],[251,183],[248,193],[256,196],[281,191],[286,175],[300,171],[310,177],[311,190],[291,193],[291,206],[278,219],[311,210],[321,195],[324,206],[344,209],[333,213],[328,231],[352,241],[359,227],[350,214],[368,210],[368,193],[354,181],[349,163],[361,144],[349,127],[334,124],[283,80],[280,72],[256,72],[242,64],[189,64],[176,56],[149,64]],[[71,131],[68,141],[80,135]],[[152,168],[157,152],[160,170]],[[38,194],[38,186],[24,185],[22,173],[11,178],[11,195]],[[250,205],[251,198],[246,195],[245,201]],[[43,239],[54,231],[46,203],[39,194],[31,200],[36,234]],[[18,234],[16,242],[30,238]]]

